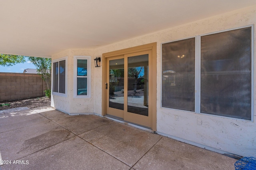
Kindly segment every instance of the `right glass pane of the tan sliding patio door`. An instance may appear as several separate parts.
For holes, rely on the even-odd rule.
[[[127,111],[148,116],[148,55],[128,57]]]

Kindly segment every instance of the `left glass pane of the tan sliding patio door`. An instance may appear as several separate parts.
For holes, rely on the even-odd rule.
[[[124,59],[109,61],[109,107],[124,110]]]

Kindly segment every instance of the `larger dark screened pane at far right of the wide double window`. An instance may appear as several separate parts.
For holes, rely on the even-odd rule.
[[[201,113],[251,119],[251,27],[201,37]]]

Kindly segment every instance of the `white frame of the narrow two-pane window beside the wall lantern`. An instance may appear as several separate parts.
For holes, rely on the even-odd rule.
[[[87,76],[77,76],[77,60],[87,60]],[[87,77],[87,95],[77,95],[77,78]],[[91,56],[74,55],[74,98],[91,98]]]

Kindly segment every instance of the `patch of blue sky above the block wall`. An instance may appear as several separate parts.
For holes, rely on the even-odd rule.
[[[34,64],[30,63],[30,61],[26,60],[25,63],[15,64],[14,66],[0,66],[0,72],[23,73],[23,71],[27,68],[36,68],[36,66],[34,66]]]

